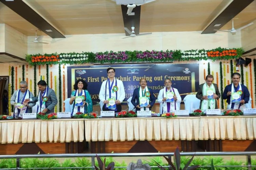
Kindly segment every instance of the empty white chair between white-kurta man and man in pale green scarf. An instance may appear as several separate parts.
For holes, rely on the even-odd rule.
[[[185,104],[185,110],[188,110],[188,113],[193,112],[195,109],[198,109],[200,106],[200,100],[196,98],[196,95],[187,95],[183,99]]]

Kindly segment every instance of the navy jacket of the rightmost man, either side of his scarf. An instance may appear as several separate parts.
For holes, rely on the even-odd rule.
[[[229,84],[225,87],[224,89],[224,92],[223,92],[223,99],[227,99],[227,103],[230,104],[230,98],[231,96],[227,96],[227,93],[229,91],[231,91],[231,87],[232,87],[232,84]],[[241,100],[244,100],[245,103],[248,103],[248,101],[250,100],[250,93],[249,93],[249,90],[247,89],[247,87],[243,84],[241,84],[241,88],[242,88],[242,91],[243,91],[243,94],[241,95]]]

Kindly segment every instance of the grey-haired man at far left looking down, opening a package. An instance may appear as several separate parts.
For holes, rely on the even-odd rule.
[[[28,90],[28,85],[26,81],[21,81],[19,83],[19,89],[14,91],[11,97],[11,105],[22,104],[25,99],[34,97],[33,94]],[[14,113],[18,115],[18,117],[22,117],[23,113],[32,113],[32,107],[35,103],[29,102],[25,104],[25,107],[15,107]],[[19,109],[20,108],[20,109]]]

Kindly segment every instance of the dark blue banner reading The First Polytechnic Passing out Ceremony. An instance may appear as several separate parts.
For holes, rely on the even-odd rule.
[[[78,79],[87,82],[87,90],[93,101],[99,102],[99,92],[103,81],[108,79],[107,69],[115,69],[115,77],[122,80],[125,87],[125,101],[132,97],[133,90],[140,85],[140,79],[147,80],[147,86],[158,97],[158,92],[164,87],[165,78],[170,78],[172,87],[177,88],[182,100],[190,92],[196,92],[199,86],[198,64],[122,64],[122,65],[93,65],[67,67],[68,97],[74,90],[73,85]]]

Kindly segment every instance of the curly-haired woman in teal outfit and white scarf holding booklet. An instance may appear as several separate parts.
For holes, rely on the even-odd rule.
[[[82,106],[75,106],[75,98],[76,96],[84,96]],[[74,103],[74,104],[73,104]],[[93,102],[91,101],[91,97],[89,92],[87,91],[87,83],[83,79],[79,79],[74,84],[74,91],[71,93],[69,104],[73,104],[72,115],[75,115],[77,112],[82,113],[91,113],[93,112]]]

